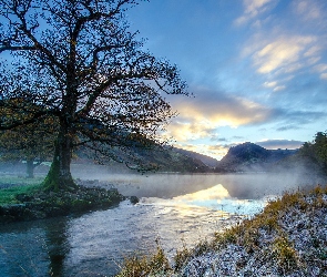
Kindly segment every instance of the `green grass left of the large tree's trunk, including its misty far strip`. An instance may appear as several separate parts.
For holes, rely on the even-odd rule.
[[[0,184],[19,184],[9,188],[0,189],[0,205],[18,204],[16,198],[19,194],[33,194],[40,189],[41,178],[21,178],[21,177],[0,177]]]

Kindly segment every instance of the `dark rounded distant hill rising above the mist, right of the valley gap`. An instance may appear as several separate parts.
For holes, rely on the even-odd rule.
[[[270,171],[275,163],[297,153],[297,150],[266,150],[246,142],[231,147],[219,161],[215,172],[262,172]]]

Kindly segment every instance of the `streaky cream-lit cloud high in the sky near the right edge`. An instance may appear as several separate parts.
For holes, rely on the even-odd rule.
[[[277,27],[254,33],[245,42],[241,59],[252,64],[263,88],[288,92],[294,84],[303,83],[303,78],[325,80],[326,75],[321,75],[327,73],[327,64],[321,62],[325,52],[325,35],[298,35]]]

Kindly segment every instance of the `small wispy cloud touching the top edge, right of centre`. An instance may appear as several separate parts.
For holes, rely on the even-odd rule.
[[[249,20],[257,18],[266,11],[269,11],[275,3],[275,0],[243,0],[244,13],[237,18],[234,23],[236,25],[243,25]],[[255,25],[260,25],[259,21],[255,21]]]

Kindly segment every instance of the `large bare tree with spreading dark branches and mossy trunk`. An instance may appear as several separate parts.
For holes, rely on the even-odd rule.
[[[119,160],[111,150],[159,142],[175,114],[163,95],[187,94],[176,66],[130,31],[124,14],[137,2],[0,0],[0,106],[8,111],[0,130],[57,119],[50,189],[74,187],[74,146]]]

